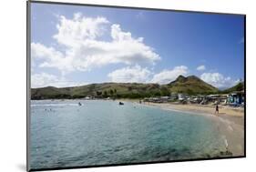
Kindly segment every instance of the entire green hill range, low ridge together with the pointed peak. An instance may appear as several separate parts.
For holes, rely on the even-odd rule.
[[[200,80],[197,76],[179,76],[168,85],[141,83],[101,83],[87,86],[56,88],[47,86],[31,89],[31,99],[62,99],[93,96],[98,98],[143,98],[169,96],[170,93],[189,95],[215,93],[219,90]]]

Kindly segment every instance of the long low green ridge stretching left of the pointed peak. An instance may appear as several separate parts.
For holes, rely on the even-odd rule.
[[[108,96],[116,98],[139,98],[166,95],[169,95],[169,90],[166,86],[139,83],[102,83],[66,88],[47,86],[31,89],[32,99],[82,98],[85,96],[98,98]]]

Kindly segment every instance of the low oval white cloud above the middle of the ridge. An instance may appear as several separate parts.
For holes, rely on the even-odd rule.
[[[144,83],[148,81],[151,72],[141,66],[128,66],[108,74],[112,82],[118,83]]]

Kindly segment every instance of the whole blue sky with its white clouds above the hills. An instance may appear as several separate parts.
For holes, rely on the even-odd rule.
[[[242,15],[32,4],[32,87],[244,76]]]

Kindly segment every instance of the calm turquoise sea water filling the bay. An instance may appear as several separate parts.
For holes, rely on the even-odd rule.
[[[220,157],[226,150],[208,116],[104,100],[31,104],[33,169]]]

